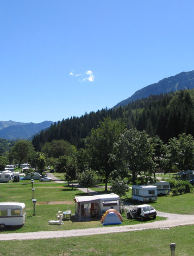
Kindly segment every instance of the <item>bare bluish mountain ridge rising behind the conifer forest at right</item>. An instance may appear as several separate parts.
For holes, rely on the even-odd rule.
[[[136,91],[129,98],[122,100],[114,107],[124,106],[136,99],[147,98],[150,95],[160,95],[172,91],[180,91],[194,88],[194,70],[190,72],[181,72],[174,76],[164,78],[158,83],[150,84],[141,90]]]

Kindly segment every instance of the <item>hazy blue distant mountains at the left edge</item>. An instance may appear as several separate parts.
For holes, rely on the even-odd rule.
[[[20,123],[14,121],[0,121],[0,138],[7,140],[31,139],[33,135],[41,130],[49,128],[52,121],[44,121],[39,124]]]

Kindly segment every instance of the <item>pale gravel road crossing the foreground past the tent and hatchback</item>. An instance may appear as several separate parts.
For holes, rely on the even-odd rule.
[[[64,231],[39,231],[30,233],[8,233],[0,234],[0,240],[27,240],[27,239],[48,239],[59,237],[71,236],[84,236],[84,235],[100,235],[107,233],[140,231],[145,229],[168,229],[170,227],[194,225],[194,215],[179,215],[164,212],[157,212],[158,216],[167,217],[166,220],[155,221],[152,223],[141,223],[137,225],[114,226],[114,227],[96,227],[77,230],[64,230]]]

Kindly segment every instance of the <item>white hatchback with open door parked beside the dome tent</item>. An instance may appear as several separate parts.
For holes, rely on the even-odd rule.
[[[156,215],[156,210],[149,204],[135,206],[131,211],[127,212],[128,219],[141,219],[141,221],[150,218],[156,219]]]

